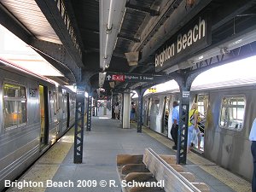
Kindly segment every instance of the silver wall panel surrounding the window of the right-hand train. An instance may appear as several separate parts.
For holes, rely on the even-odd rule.
[[[224,96],[241,95],[245,96],[246,99],[241,131],[228,130],[221,127],[219,117],[222,98]],[[251,179],[253,174],[253,157],[248,135],[256,113],[255,96],[256,91],[253,86],[243,89],[234,88],[211,91],[205,134],[204,156],[247,179]]]

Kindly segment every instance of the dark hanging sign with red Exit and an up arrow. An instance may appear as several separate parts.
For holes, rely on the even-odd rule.
[[[107,73],[106,81],[120,81],[120,82],[153,82],[163,79],[165,76],[148,75],[148,74],[115,74]]]

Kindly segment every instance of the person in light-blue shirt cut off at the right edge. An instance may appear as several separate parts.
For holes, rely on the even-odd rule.
[[[256,118],[253,121],[253,126],[249,136],[252,142],[251,151],[253,154],[253,181],[252,181],[252,191],[256,192]]]

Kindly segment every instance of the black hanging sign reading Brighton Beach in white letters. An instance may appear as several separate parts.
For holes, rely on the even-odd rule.
[[[174,38],[173,38],[174,37]],[[172,67],[212,43],[209,17],[201,15],[168,39],[155,54],[155,71]]]

